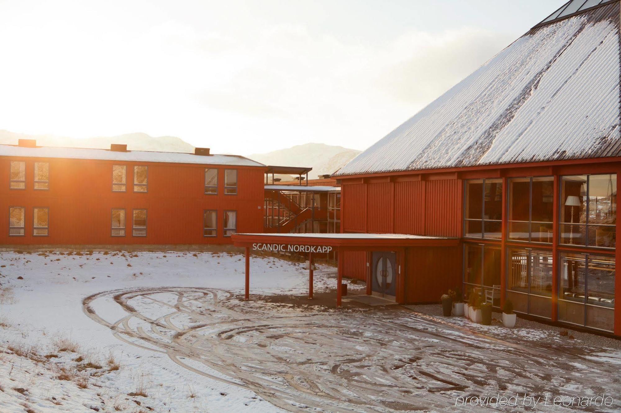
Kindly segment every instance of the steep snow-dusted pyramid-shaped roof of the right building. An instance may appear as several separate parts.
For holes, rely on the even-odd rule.
[[[567,2],[336,175],[620,156],[619,7]]]

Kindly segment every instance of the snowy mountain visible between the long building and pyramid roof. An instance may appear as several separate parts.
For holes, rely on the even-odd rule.
[[[319,175],[333,174],[360,152],[342,146],[306,143],[278,151],[252,154],[248,158],[266,165],[312,167],[309,179],[316,179]]]

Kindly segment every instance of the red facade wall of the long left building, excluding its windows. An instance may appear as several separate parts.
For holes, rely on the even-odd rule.
[[[26,162],[26,189],[9,189],[10,161]],[[50,189],[33,190],[34,162],[49,162]],[[127,192],[112,192],[112,165],[127,166]],[[133,191],[134,166],[148,166],[148,192]],[[204,169],[219,169],[218,195],[204,194]],[[224,195],[224,169],[237,169],[237,195]],[[1,244],[229,244],[224,211],[237,210],[237,231],[263,231],[263,168],[0,158]],[[8,236],[9,207],[25,207],[25,236]],[[32,208],[50,208],[49,236],[32,236]],[[111,236],[112,208],[126,209],[126,235]],[[147,208],[147,236],[132,236],[132,209]],[[203,210],[218,211],[218,236],[202,236]]]

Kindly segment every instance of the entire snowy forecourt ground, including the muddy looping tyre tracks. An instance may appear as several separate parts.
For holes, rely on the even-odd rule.
[[[315,272],[313,305],[288,300],[307,271],[268,257],[252,258],[243,301],[243,267],[226,253],[0,254],[0,412],[447,411],[498,393],[542,399],[491,410],[602,393],[613,404],[591,411],[621,408],[610,340],[438,306],[314,305],[331,267]]]

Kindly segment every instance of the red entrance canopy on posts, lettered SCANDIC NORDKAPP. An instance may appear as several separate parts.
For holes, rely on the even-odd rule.
[[[300,252],[309,255],[309,298],[312,298],[313,254],[337,251],[338,254],[338,281],[337,307],[341,305],[343,254],[344,251],[394,251],[399,253],[397,288],[404,286],[405,251],[412,247],[455,247],[457,238],[419,236],[409,234],[232,234],[233,245],[246,249],[246,288],[245,298],[250,296],[250,251],[268,252]],[[370,294],[369,275],[367,278],[367,293]],[[397,300],[399,301],[399,300]]]

